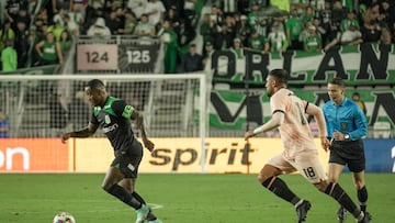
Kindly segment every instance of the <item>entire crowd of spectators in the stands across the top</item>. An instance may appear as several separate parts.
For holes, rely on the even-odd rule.
[[[166,73],[202,69],[218,49],[242,57],[246,47],[266,54],[394,43],[395,5],[390,0],[349,0],[346,5],[340,0],[212,0],[205,1],[211,11],[194,26],[196,2],[7,0],[0,30],[2,70],[61,64],[77,35],[162,36]],[[202,48],[196,48],[196,35],[202,35]],[[180,57],[180,47],[189,45],[191,51]]]

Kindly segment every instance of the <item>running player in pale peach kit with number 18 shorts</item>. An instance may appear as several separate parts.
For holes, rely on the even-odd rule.
[[[297,222],[304,222],[312,204],[298,198],[279,177],[282,174],[298,171],[319,191],[332,197],[345,207],[358,222],[366,223],[369,218],[356,205],[346,191],[336,182],[328,181],[319,163],[318,150],[313,141],[306,114],[314,115],[319,127],[321,146],[330,146],[326,124],[320,108],[296,97],[287,89],[289,74],[284,69],[273,69],[266,79],[267,94],[270,97],[272,118],[261,126],[245,134],[245,140],[258,133],[279,129],[284,150],[271,158],[259,174],[259,182],[275,196],[292,203],[297,213]]]

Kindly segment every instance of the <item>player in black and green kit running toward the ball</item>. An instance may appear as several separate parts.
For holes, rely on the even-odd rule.
[[[144,146],[150,152],[155,146],[146,135],[143,114],[124,100],[110,97],[104,83],[99,79],[90,80],[84,90],[94,107],[90,122],[80,131],[63,134],[61,142],[65,143],[70,137],[89,137],[101,127],[115,154],[102,188],[136,210],[136,223],[145,220],[149,223],[161,223],[134,190],[138,166],[143,158],[143,146],[133,134],[131,120],[135,121],[139,129]]]

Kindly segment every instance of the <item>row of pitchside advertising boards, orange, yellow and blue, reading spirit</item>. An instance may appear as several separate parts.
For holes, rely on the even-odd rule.
[[[140,172],[257,174],[273,155],[281,153],[280,138],[210,137],[205,141],[204,168],[201,167],[200,138],[151,138],[153,154],[145,152]],[[315,140],[320,148],[319,140]],[[364,140],[366,172],[395,172],[395,140]],[[249,152],[249,153],[248,153]],[[318,149],[323,165],[328,154]],[[105,172],[113,159],[106,138],[2,138],[0,172]]]

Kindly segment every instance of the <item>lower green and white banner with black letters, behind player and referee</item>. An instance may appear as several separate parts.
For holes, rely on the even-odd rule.
[[[328,100],[326,87],[317,89],[292,89],[296,96],[311,103],[321,107]],[[351,98],[354,89],[346,90]],[[395,90],[394,89],[358,89],[361,99],[365,102],[366,120],[370,126],[377,122],[388,123],[394,129],[395,123]],[[213,90],[210,103],[210,127],[221,130],[245,130],[246,123],[250,126],[261,125],[271,116],[269,100],[266,90],[251,91],[246,97],[244,91]]]

